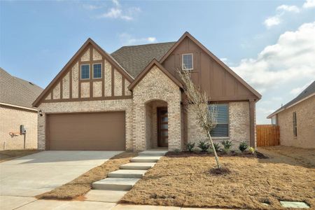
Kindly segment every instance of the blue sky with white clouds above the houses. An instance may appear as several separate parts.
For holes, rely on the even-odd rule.
[[[262,94],[257,124],[315,80],[315,0],[2,0],[0,66],[45,88],[89,37],[111,53],[185,31]]]

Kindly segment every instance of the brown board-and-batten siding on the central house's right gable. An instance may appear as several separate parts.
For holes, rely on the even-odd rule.
[[[186,37],[165,59],[162,66],[179,78],[176,69],[181,68],[182,55],[193,53],[191,76],[202,91],[209,94],[211,101],[248,100],[257,97],[242,83],[210,57],[200,46]],[[186,70],[187,71],[187,70]]]

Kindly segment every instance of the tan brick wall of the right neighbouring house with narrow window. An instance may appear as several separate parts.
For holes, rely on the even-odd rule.
[[[293,112],[296,112],[297,137],[293,135]],[[315,96],[278,113],[280,144],[315,148]]]

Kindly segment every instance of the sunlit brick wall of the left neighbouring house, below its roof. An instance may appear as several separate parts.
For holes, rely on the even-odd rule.
[[[20,132],[20,125],[27,130],[25,147],[37,148],[37,112],[0,106],[0,151],[4,149],[4,142],[6,150],[24,148],[24,135],[9,135],[9,132]]]

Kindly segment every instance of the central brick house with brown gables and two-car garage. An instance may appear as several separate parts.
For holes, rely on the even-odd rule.
[[[176,68],[218,103],[214,139],[255,146],[255,102],[260,94],[188,32],[179,41],[125,46],[109,55],[87,39],[33,103],[38,148],[134,150],[184,148],[207,139],[183,107]]]

